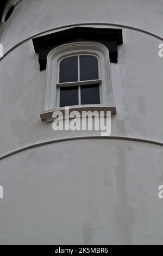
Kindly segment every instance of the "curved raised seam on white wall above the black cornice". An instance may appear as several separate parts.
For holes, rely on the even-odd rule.
[[[76,23],[76,24],[72,24],[72,25],[65,25],[65,26],[61,26],[61,27],[57,27],[57,28],[51,28],[51,29],[48,29],[47,31],[43,31],[43,32],[40,32],[40,33],[37,33],[33,36],[30,36],[29,38],[27,39],[24,39],[22,40],[21,42],[19,42],[18,44],[16,44],[15,46],[13,46],[12,48],[10,48],[10,50],[8,52],[6,52],[4,54],[4,56],[0,59],[0,62],[2,59],[4,59],[10,52],[12,52],[15,48],[17,48],[18,46],[22,45],[24,42],[27,42],[29,41],[30,39],[33,39],[37,36],[40,36],[42,34],[45,34],[45,33],[48,33],[48,32],[52,32],[52,31],[55,31],[55,30],[58,30],[58,29],[62,29],[62,28],[71,28],[71,27],[74,27],[74,26],[84,26],[84,25],[105,25],[105,26],[114,26],[114,27],[123,27],[123,28],[128,28],[128,29],[133,29],[135,31],[139,31],[139,32],[142,32],[142,33],[145,33],[145,34],[148,34],[148,35],[151,35],[151,36],[154,36],[155,38],[157,39],[160,39],[163,41],[163,38],[161,38],[160,36],[158,35],[155,35],[151,32],[148,32],[148,31],[144,31],[143,29],[140,29],[140,28],[135,28],[135,27],[130,27],[130,26],[126,26],[126,25],[120,25],[120,24],[112,24],[112,23],[100,23],[100,22],[97,22],[97,23],[94,23],[94,22],[91,22],[91,23]]]

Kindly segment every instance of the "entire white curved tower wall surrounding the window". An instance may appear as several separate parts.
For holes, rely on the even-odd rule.
[[[0,157],[55,139],[99,135],[54,132],[39,117],[46,71],[39,70],[31,38],[77,24],[123,30],[118,64],[110,65],[117,108],[111,136],[160,145],[85,139],[1,159],[0,244],[162,243],[162,9],[156,0],[23,0],[2,26]]]

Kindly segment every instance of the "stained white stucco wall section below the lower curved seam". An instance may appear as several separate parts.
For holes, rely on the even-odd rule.
[[[91,139],[1,161],[0,244],[162,244],[162,147]]]

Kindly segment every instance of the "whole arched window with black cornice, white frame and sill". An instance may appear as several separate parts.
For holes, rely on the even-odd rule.
[[[110,62],[118,62],[122,29],[72,27],[33,38],[40,71],[46,71],[45,107],[41,120],[55,110],[111,111],[116,114]],[[58,109],[59,108],[59,109]]]

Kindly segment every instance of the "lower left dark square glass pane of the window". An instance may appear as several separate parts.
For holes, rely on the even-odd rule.
[[[78,86],[60,88],[60,107],[79,104]]]

